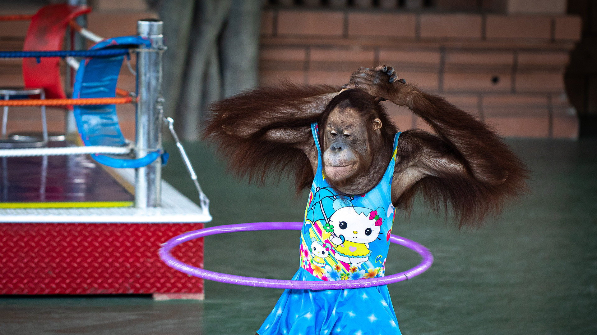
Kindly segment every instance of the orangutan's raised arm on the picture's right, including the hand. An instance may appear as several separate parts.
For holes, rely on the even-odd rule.
[[[437,134],[402,133],[392,184],[397,206],[409,207],[420,191],[433,209],[450,203],[460,225],[475,224],[527,192],[528,170],[494,131],[443,98],[398,80],[392,67],[361,68],[344,87],[407,106]]]

